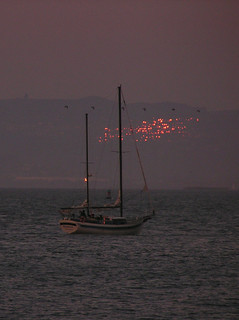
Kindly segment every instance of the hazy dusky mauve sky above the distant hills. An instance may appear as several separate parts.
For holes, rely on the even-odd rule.
[[[238,0],[1,0],[0,99],[239,109]]]

